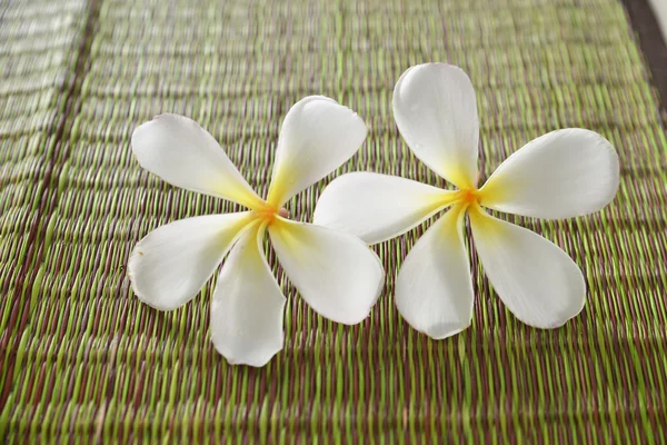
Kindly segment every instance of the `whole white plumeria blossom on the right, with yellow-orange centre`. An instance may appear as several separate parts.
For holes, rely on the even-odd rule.
[[[348,174],[325,189],[315,224],[375,244],[449,208],[416,243],[396,279],[398,310],[430,337],[455,335],[472,318],[466,215],[481,265],[518,319],[555,328],[579,314],[586,284],[569,256],[482,207],[548,219],[601,209],[614,199],[619,181],[618,156],[609,141],[578,128],[552,131],[511,155],[478,188],[477,101],[462,70],[444,63],[408,69],[394,90],[394,115],[412,152],[458,189],[371,172]]]

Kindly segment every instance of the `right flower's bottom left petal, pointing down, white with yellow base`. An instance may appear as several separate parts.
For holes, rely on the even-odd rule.
[[[396,306],[415,329],[441,339],[472,319],[472,278],[464,241],[465,212],[438,219],[406,257],[396,280]]]

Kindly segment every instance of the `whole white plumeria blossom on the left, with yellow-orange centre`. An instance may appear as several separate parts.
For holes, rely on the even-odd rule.
[[[197,294],[229,253],[211,300],[212,342],[231,364],[265,365],[282,349],[282,295],[263,250],[266,231],[291,283],[322,316],[364,320],[385,271],[359,238],[286,218],[283,205],[347,161],[366,138],[352,110],[326,97],[307,97],[287,113],[267,199],[260,198],[222,148],[195,121],[158,116],[132,135],[147,170],[188,190],[235,201],[249,210],[178,220],[136,246],[128,270],[148,305],[176,309]]]

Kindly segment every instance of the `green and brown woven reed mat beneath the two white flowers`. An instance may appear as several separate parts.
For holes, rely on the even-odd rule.
[[[469,72],[482,177],[556,128],[618,148],[620,190],[601,214],[518,220],[584,269],[579,317],[552,332],[520,324],[472,254],[471,327],[419,335],[392,289],[424,228],[377,247],[387,287],[358,326],[317,316],[279,273],[286,347],[261,369],[228,366],[209,342],[213,283],[172,313],[133,297],[135,243],[232,209],[142,171],[138,123],[192,117],[266,192],[282,117],[323,93],[370,128],[338,174],[442,185],[391,116],[394,83],[424,61]],[[0,437],[665,443],[665,136],[617,0],[0,1]],[[325,184],[292,215],[310,218]]]

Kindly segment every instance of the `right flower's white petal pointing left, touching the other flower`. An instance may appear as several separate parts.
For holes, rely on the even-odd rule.
[[[424,222],[449,205],[454,195],[397,176],[352,172],[336,178],[322,191],[313,222],[376,244]]]

